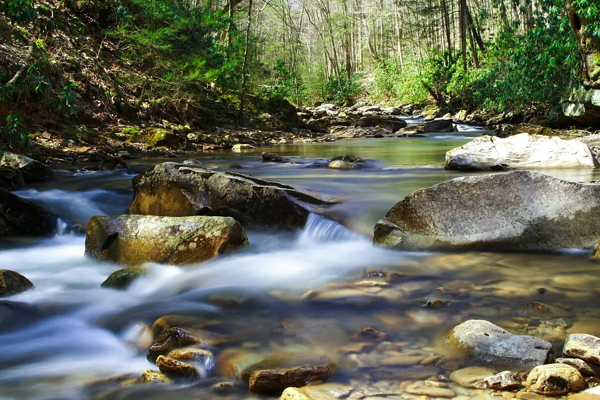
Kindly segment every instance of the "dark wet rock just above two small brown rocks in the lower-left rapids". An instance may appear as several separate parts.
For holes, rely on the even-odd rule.
[[[226,338],[215,333],[200,329],[182,329],[179,327],[163,330],[158,335],[156,341],[148,349],[146,356],[149,361],[155,362],[158,356],[165,356],[171,351],[181,347],[197,345],[199,347],[209,347],[223,344]]]

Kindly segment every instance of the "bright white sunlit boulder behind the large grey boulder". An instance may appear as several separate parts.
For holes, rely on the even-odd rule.
[[[590,149],[577,140],[521,133],[504,139],[484,135],[446,153],[446,169],[505,170],[595,167]]]

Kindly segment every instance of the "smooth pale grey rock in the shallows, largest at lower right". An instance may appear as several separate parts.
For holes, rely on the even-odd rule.
[[[448,332],[451,345],[486,365],[533,368],[547,362],[550,342],[529,335],[513,335],[485,320],[468,320]]]

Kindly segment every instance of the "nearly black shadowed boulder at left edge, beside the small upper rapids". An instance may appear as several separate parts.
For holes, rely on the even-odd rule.
[[[56,215],[0,188],[0,236],[50,236],[56,228]]]

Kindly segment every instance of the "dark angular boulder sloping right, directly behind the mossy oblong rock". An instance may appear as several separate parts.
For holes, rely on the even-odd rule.
[[[242,223],[304,226],[331,201],[309,191],[233,172],[163,163],[133,179],[130,213],[233,216]]]

